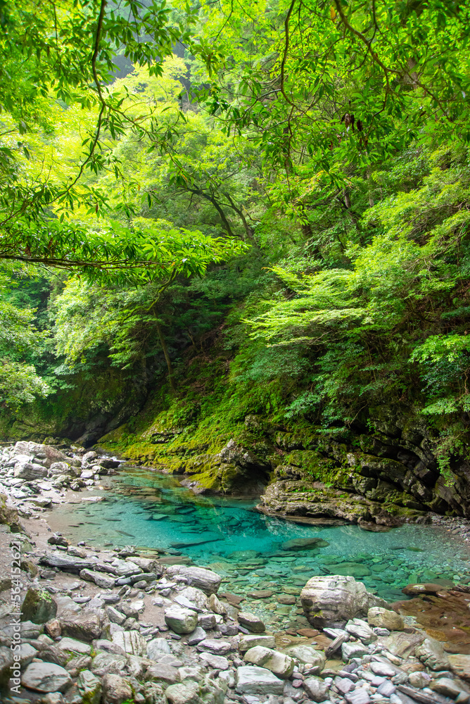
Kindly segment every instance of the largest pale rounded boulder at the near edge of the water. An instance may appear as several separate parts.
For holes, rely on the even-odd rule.
[[[386,606],[362,582],[341,576],[312,577],[300,592],[300,600],[307,619],[320,628],[366,615],[373,606]]]

